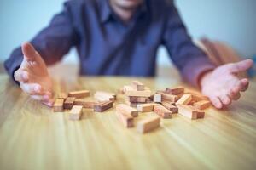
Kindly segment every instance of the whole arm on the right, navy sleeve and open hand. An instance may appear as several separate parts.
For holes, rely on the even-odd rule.
[[[252,67],[253,61],[247,59],[215,67],[191,41],[174,5],[170,5],[167,11],[169,14],[163,43],[183,78],[199,86],[202,94],[218,109],[239,99],[240,92],[247,90],[249,82],[247,78],[239,79],[236,75]]]

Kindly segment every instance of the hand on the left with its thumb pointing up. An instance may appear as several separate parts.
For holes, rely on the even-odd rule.
[[[53,105],[52,80],[40,54],[25,42],[22,45],[24,55],[20,68],[15,71],[15,80],[20,82],[20,88],[30,94],[32,99],[40,100],[44,105]]]

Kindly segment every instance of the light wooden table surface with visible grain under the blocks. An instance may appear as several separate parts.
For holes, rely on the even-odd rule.
[[[55,92],[89,89],[116,92],[134,78],[55,79]],[[179,84],[139,78],[152,90]],[[84,109],[79,122],[33,101],[6,75],[0,76],[0,169],[255,169],[256,81],[242,98],[204,119],[175,115],[151,133],[123,127],[114,109]],[[118,95],[118,103],[122,96]],[[154,113],[143,113],[137,120]],[[137,121],[136,120],[136,121]]]

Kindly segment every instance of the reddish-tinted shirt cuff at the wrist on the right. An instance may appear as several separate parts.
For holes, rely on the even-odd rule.
[[[189,63],[183,67],[181,73],[186,82],[189,82],[196,88],[200,88],[199,81],[203,73],[212,71],[215,68],[216,65],[213,65],[210,59],[206,56],[201,56],[200,58],[190,60]]]

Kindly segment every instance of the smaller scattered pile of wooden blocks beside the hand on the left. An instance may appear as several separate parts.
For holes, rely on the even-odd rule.
[[[94,94],[95,99],[84,99],[90,96],[90,91],[79,90],[59,94],[55,99],[53,106],[54,112],[69,111],[70,120],[79,120],[83,114],[83,108],[93,109],[95,112],[103,112],[113,107],[116,100],[116,94],[97,91]]]

